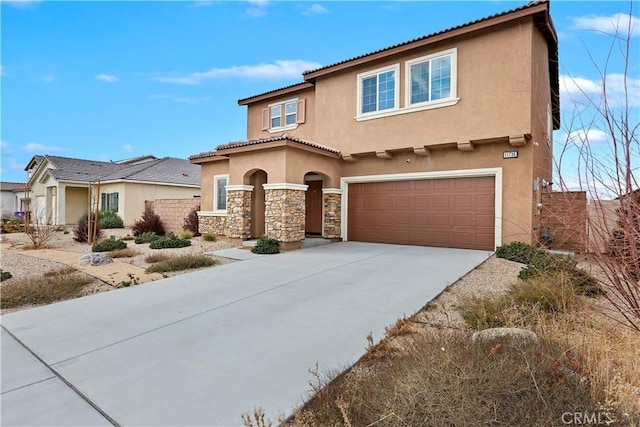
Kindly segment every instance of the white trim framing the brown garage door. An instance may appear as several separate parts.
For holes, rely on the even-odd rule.
[[[502,168],[459,169],[451,171],[396,173],[386,175],[345,176],[340,178],[342,189],[342,240],[348,241],[349,184],[384,181],[413,181],[421,179],[473,178],[493,176],[495,178],[495,247],[502,245]]]

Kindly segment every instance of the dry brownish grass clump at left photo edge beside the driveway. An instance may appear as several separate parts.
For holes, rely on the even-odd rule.
[[[28,277],[2,285],[0,307],[42,305],[81,296],[82,288],[93,279],[83,273],[62,268],[39,277]]]

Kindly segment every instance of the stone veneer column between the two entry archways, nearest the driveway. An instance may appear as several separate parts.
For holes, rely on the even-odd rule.
[[[264,184],[265,232],[279,242],[304,239],[307,185]]]

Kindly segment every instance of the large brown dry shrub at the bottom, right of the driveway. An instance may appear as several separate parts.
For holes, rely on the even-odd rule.
[[[466,333],[432,330],[404,354],[320,387],[289,424],[558,425],[565,412],[595,410],[579,375],[557,375],[551,351],[492,351]]]

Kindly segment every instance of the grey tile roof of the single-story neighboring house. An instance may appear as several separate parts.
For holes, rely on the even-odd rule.
[[[47,170],[59,181],[147,181],[178,185],[200,185],[200,167],[188,160],[164,157],[143,163],[115,163],[45,156],[53,166]]]

